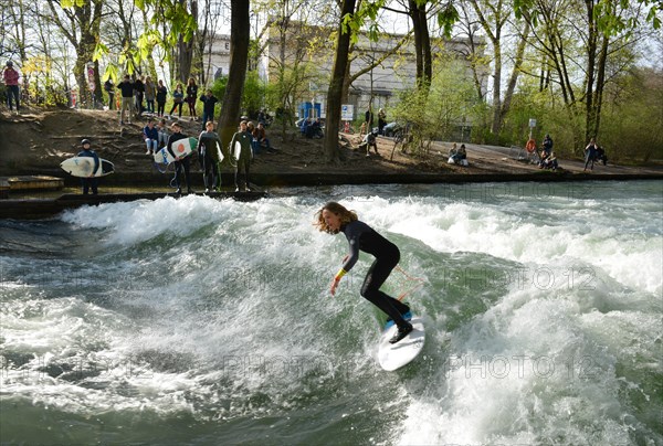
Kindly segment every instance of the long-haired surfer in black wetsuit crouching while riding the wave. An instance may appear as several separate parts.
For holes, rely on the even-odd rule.
[[[364,285],[361,285],[361,297],[385,311],[397,325],[398,331],[389,341],[390,343],[396,343],[408,336],[412,331],[412,325],[403,319],[402,315],[410,311],[410,308],[398,299],[380,291],[380,287],[400,261],[398,246],[378,234],[366,223],[359,221],[354,211],[349,211],[336,202],[325,204],[317,212],[316,219],[316,226],[319,231],[328,234],[343,232],[350,244],[350,254],[345,257],[343,267],[332,283],[332,295],[336,294],[340,278],[357,263],[359,251],[372,255],[376,259],[366,274]]]

